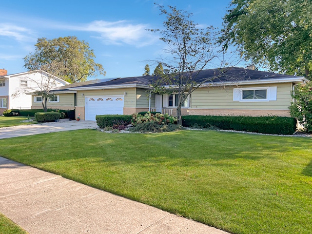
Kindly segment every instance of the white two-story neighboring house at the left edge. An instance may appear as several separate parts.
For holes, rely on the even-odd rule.
[[[13,75],[7,75],[6,70],[0,70],[0,115],[7,109],[31,109],[33,100],[26,93],[40,90],[39,86],[47,85],[47,80],[55,87],[69,84],[41,70]]]

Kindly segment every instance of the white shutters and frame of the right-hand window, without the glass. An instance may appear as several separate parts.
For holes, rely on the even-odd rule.
[[[267,91],[267,98],[264,98],[264,99],[243,99],[243,91],[245,91],[245,90],[266,90]],[[239,101],[239,102],[276,101],[276,95],[277,95],[277,86],[234,88],[233,89],[233,101]]]

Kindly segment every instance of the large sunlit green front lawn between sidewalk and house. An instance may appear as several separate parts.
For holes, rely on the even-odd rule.
[[[1,156],[234,234],[311,234],[310,137],[87,129],[0,145]]]

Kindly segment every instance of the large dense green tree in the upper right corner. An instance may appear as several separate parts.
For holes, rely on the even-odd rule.
[[[218,41],[254,64],[289,75],[312,72],[311,0],[232,0]]]

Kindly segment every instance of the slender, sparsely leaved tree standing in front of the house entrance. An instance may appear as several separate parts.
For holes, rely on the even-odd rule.
[[[178,94],[178,106],[176,108],[178,123],[182,124],[181,106],[186,98],[199,87],[200,83],[195,81],[197,74],[215,58],[213,52],[212,27],[206,30],[198,27],[190,18],[192,13],[177,10],[176,7],[159,6],[161,15],[166,15],[167,20],[163,22],[164,30],[149,29],[158,32],[162,37],[160,40],[168,45],[167,53],[171,54],[168,60],[162,59],[160,64],[169,69],[152,84],[154,93],[176,92]],[[195,72],[196,71],[196,72]],[[163,84],[167,84],[168,89]]]

